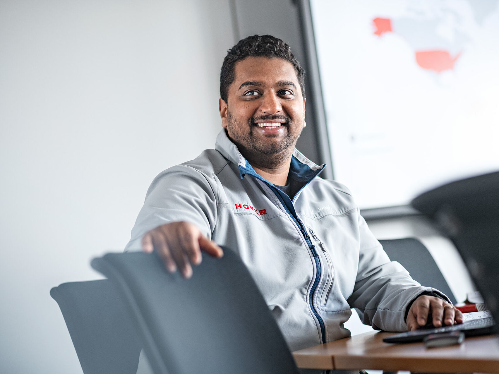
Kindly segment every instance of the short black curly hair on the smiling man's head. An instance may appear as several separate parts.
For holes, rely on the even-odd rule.
[[[241,39],[227,51],[220,71],[220,97],[227,103],[229,86],[236,79],[234,68],[236,62],[246,57],[282,58],[290,62],[296,72],[301,94],[305,98],[305,70],[291,52],[288,44],[272,35],[252,35]]]

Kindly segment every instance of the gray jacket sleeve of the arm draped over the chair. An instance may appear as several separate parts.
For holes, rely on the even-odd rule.
[[[194,223],[211,238],[217,214],[216,188],[212,179],[187,165],[162,172],[147,191],[125,251],[140,250],[146,232],[169,222]]]

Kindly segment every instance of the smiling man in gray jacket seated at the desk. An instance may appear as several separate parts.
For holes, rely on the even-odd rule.
[[[155,250],[190,277],[202,251],[233,248],[292,351],[349,336],[350,308],[386,331],[462,322],[445,295],[389,260],[349,190],[294,149],[304,71],[287,44],[241,40],[224,59],[220,95],[216,148],[156,177],[127,249]]]

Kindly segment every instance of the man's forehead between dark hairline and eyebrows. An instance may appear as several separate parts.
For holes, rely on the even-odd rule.
[[[299,89],[298,77],[293,65],[281,58],[246,57],[236,62],[234,83],[237,90],[241,83],[258,81],[264,85],[273,85],[279,81],[291,81]]]

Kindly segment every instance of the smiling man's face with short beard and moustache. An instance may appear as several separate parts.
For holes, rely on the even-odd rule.
[[[235,65],[222,126],[251,163],[271,167],[291,157],[303,129],[305,101],[293,65],[280,58],[247,57]]]

